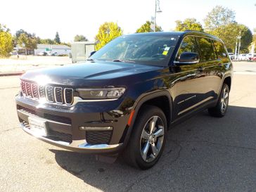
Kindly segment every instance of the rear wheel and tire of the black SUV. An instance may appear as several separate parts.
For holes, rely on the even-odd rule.
[[[222,91],[219,94],[219,100],[214,108],[209,108],[208,113],[213,117],[224,117],[229,105],[229,86],[223,84]]]

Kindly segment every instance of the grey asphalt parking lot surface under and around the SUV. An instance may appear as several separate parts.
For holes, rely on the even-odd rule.
[[[173,127],[146,171],[25,134],[15,111],[19,79],[0,77],[0,191],[256,191],[256,63],[234,70],[226,116],[203,111]]]

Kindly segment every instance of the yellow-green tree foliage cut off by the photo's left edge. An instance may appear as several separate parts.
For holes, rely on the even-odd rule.
[[[0,57],[9,57],[10,52],[13,51],[13,37],[6,28],[0,25]]]

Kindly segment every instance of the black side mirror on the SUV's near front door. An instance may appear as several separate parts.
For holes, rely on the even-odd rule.
[[[190,65],[196,64],[199,62],[199,55],[198,53],[193,52],[183,52],[179,56],[179,60],[174,61],[176,65]]]

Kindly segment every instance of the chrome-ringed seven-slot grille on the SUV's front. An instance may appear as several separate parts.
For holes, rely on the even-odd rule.
[[[46,98],[50,103],[72,105],[73,89],[53,86],[41,86],[31,82],[21,81],[20,83],[23,95],[29,98]]]

